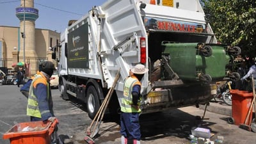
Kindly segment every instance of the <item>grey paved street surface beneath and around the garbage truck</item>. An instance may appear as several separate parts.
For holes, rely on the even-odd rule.
[[[58,117],[58,125],[61,139],[70,138],[74,144],[85,144],[86,129],[90,125],[90,118],[83,104],[77,100],[62,100],[58,90],[52,90],[54,101],[54,113]],[[28,122],[26,116],[26,98],[19,92],[17,86],[0,85],[0,134],[8,131],[12,125],[20,122]],[[192,127],[205,127],[211,129],[216,136],[224,136],[224,143],[230,144],[255,144],[256,134],[227,124],[228,116],[207,112],[205,118],[198,120],[195,116],[202,116],[204,111],[193,106],[173,109],[163,113],[141,115],[142,144],[155,143],[190,143],[188,136]],[[102,122],[99,137],[95,139],[99,144],[119,144],[119,118],[107,117]],[[0,139],[1,144],[10,143],[9,140]]]

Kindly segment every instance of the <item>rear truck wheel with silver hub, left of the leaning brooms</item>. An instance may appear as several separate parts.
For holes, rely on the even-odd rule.
[[[94,86],[89,86],[86,92],[86,107],[88,116],[93,119],[100,108],[99,95]]]

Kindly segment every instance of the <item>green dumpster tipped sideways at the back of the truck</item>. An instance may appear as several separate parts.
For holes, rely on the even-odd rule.
[[[225,47],[217,44],[205,44],[211,54],[205,56],[198,50],[198,43],[162,43],[163,53],[170,54],[168,64],[182,80],[198,81],[200,74],[207,74],[212,80],[226,76],[226,65],[230,56]]]

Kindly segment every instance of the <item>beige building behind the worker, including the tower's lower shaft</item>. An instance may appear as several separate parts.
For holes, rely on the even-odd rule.
[[[31,52],[31,49],[26,51],[26,45],[29,45],[26,43],[25,52],[23,52],[24,44],[20,27],[0,26],[0,67],[13,68],[13,63],[25,60],[25,63],[29,65],[26,71],[29,75],[35,74],[42,61],[53,61],[49,47],[54,47],[59,42],[60,33],[49,29],[35,29],[35,52]],[[56,64],[56,61],[53,62]]]

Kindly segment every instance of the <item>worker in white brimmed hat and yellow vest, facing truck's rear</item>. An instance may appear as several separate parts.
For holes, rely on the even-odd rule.
[[[141,79],[148,69],[138,64],[132,67],[124,81],[124,95],[121,100],[120,133],[122,144],[140,144],[141,132],[139,123]]]

